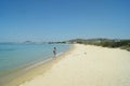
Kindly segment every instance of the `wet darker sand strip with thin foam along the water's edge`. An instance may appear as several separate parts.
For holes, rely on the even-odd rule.
[[[13,80],[13,81],[10,81],[8,84],[3,83],[1,86],[18,86],[26,81],[32,80],[37,75],[46,73],[49,69],[51,69],[51,67],[53,66],[54,62],[62,59],[61,57],[65,56],[66,54],[68,54],[73,49],[74,49],[74,45],[70,45],[69,49],[67,49],[63,54],[57,55],[56,58],[52,57],[52,58],[47,59],[44,61],[39,61],[35,64],[30,64],[30,66],[27,66],[26,68],[22,68],[22,69],[16,70],[11,75],[6,76],[6,77],[9,77],[9,80]],[[13,76],[13,75],[15,75],[15,76]],[[6,77],[4,80],[6,80]]]

